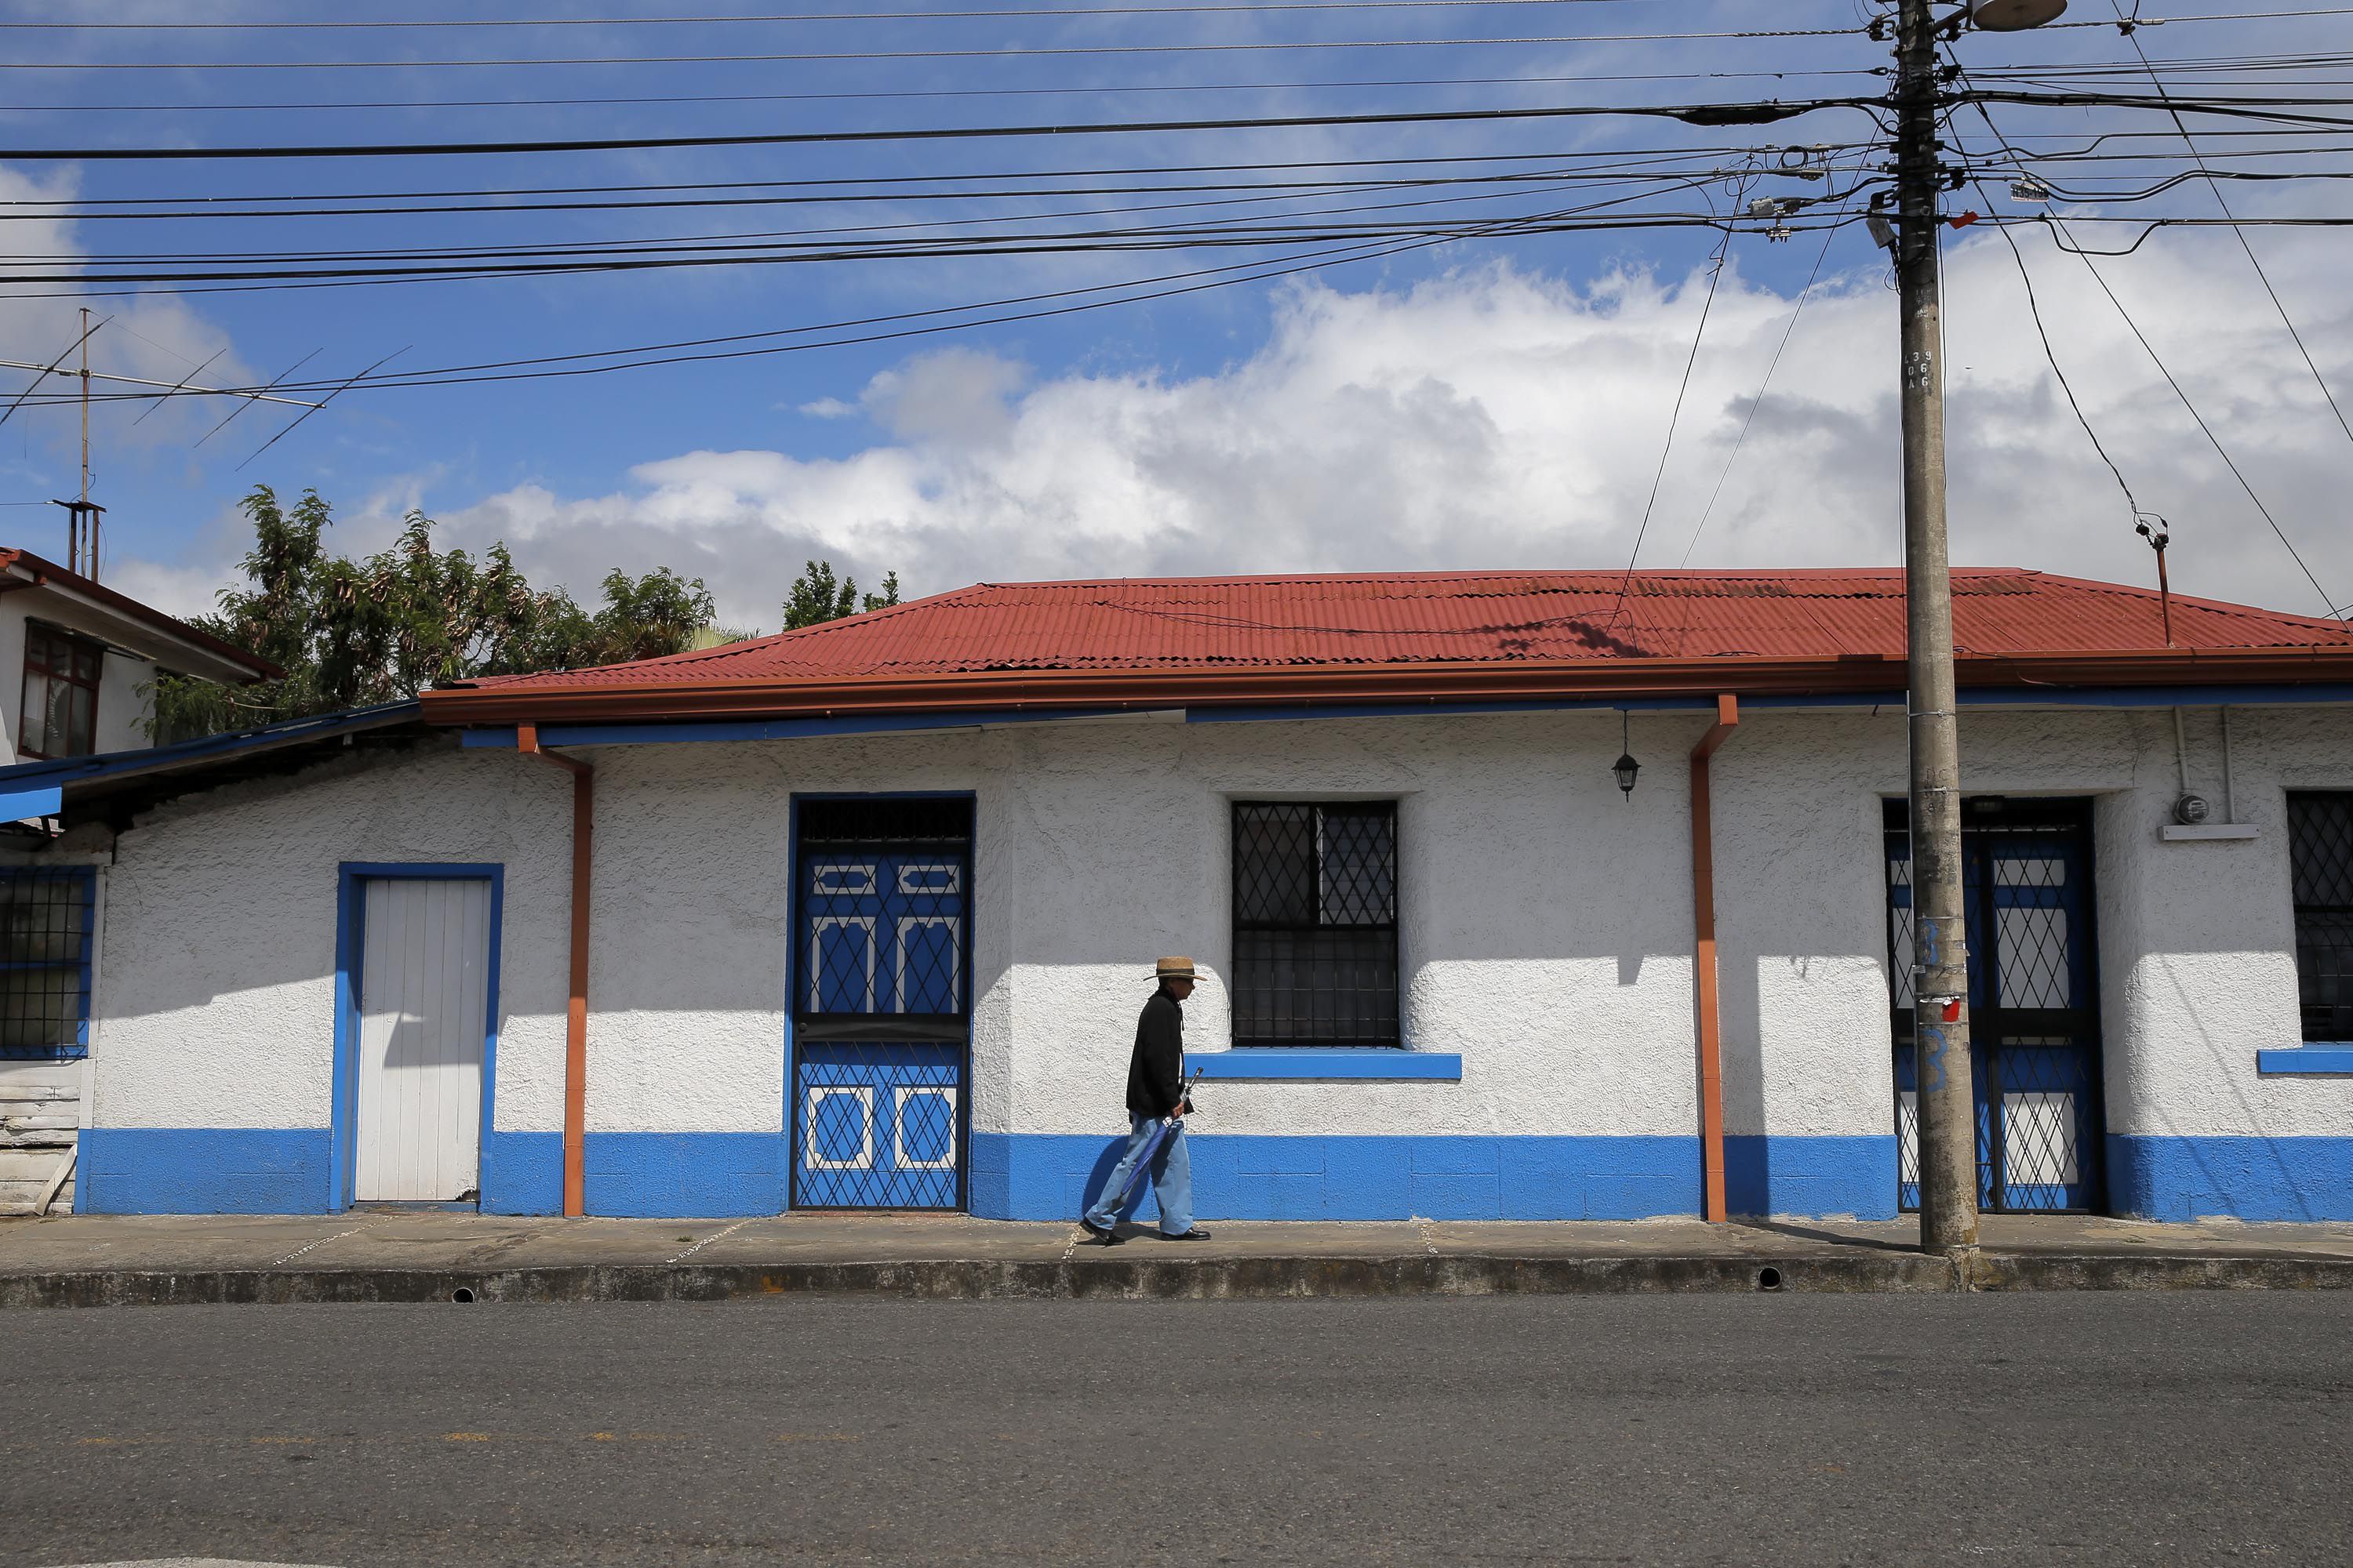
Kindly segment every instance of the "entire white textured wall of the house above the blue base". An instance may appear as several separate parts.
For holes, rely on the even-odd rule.
[[[840,741],[593,748],[593,1131],[772,1131],[784,1112],[793,792],[972,790],[974,1124],[1120,1121],[1151,959],[1191,952],[1226,1044],[1228,802],[1395,797],[1407,1044],[1461,1084],[1205,1088],[1221,1133],[1689,1133],[1685,757],[1706,715],[1012,724]],[[2101,795],[2115,1131],[2353,1133],[2353,1086],[2259,1079],[2297,1039],[2285,788],[2353,785],[2353,715],[2242,710],[2252,844],[2160,844],[2165,712],[1969,712],[1972,792]],[[2221,797],[2214,722],[2193,783]],[[1880,799],[1899,710],[1751,710],[1715,762],[1725,1098],[1734,1133],[1889,1131]],[[329,766],[127,832],[104,936],[96,1121],[327,1121],[339,860],[504,860],[496,1124],[560,1126],[569,783],[496,750]]]

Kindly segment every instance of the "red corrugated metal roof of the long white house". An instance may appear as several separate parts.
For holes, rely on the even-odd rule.
[[[1619,592],[1624,583],[1624,595]],[[2021,569],[1955,569],[1965,661],[2353,649],[2344,623]],[[1901,658],[1901,571],[1424,571],[976,583],[826,625],[475,691],[624,693],[1052,670]]]

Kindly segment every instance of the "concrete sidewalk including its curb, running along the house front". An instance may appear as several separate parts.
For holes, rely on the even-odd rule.
[[[1226,1222],[1104,1248],[967,1215],[522,1220],[440,1211],[0,1220],[0,1307],[162,1302],[1494,1295],[1572,1291],[2353,1288],[2353,1225],[1984,1222],[1962,1267],[1908,1220]]]

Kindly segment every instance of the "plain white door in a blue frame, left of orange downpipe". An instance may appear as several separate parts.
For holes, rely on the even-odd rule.
[[[480,1185],[489,884],[374,877],[360,952],[353,1199],[447,1204]]]

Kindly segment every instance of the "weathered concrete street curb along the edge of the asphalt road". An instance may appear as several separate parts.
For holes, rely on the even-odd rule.
[[[242,1302],[1285,1300],[1372,1295],[1675,1295],[1958,1291],[2348,1291],[2353,1258],[1873,1251],[1791,1258],[936,1258],[889,1262],[567,1265],[522,1269],[75,1269],[0,1274],[7,1307]]]

